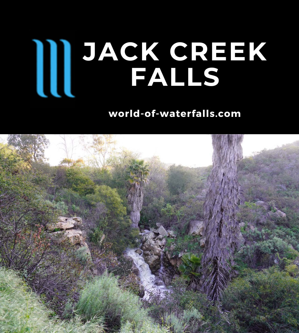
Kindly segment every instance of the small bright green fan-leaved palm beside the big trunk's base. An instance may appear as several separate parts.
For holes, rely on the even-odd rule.
[[[182,272],[183,278],[188,283],[187,290],[199,290],[200,273],[198,273],[198,270],[200,269],[201,253],[197,257],[195,254],[189,252],[184,254],[181,259],[183,263],[178,269]]]

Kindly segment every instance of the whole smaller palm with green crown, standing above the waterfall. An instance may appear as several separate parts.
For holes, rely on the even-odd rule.
[[[128,204],[131,208],[131,228],[138,228],[143,204],[144,185],[149,182],[149,166],[144,160],[132,160],[128,166]]]

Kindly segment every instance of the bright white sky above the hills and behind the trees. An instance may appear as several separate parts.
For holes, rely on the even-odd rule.
[[[84,157],[79,145],[79,134],[71,135],[75,139],[73,159]],[[60,149],[61,139],[54,134],[46,134],[50,147],[45,156],[51,165],[58,165],[64,159]],[[0,134],[0,141],[6,142],[7,134]],[[273,149],[299,140],[299,134],[245,134],[242,143],[243,155]],[[140,158],[159,156],[164,163],[183,166],[208,166],[212,164],[212,140],[209,134],[117,134],[116,148],[126,148],[139,152]]]

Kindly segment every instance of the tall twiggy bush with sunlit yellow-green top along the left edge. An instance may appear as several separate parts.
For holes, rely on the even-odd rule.
[[[51,219],[30,178],[16,152],[0,144],[0,264],[27,274],[49,247],[44,226]]]

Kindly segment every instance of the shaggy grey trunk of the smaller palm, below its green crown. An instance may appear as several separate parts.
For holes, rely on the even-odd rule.
[[[143,204],[144,188],[140,184],[134,184],[128,193],[128,203],[131,207],[130,219],[131,228],[138,228],[140,211]]]

